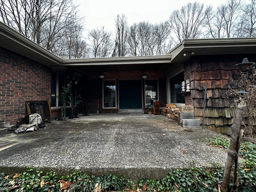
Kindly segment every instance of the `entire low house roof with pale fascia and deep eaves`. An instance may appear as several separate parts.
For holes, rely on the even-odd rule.
[[[220,39],[186,39],[174,47],[166,55],[158,56],[130,56],[108,58],[65,59],[56,56],[29,40],[22,34],[0,22],[0,46],[17,52],[30,59],[50,66],[59,72],[66,72],[67,68],[74,69],[88,78],[98,78],[101,73],[112,78],[120,72],[134,72],[138,74],[158,74],[166,76],[172,68],[182,65],[194,55],[245,54],[256,53],[256,38],[220,38]],[[186,53],[186,56],[184,56]],[[138,76],[131,74],[128,78]],[[126,76],[127,77],[127,76]]]

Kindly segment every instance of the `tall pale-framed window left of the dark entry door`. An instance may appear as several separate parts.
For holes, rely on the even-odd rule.
[[[116,80],[103,81],[103,108],[116,108]]]

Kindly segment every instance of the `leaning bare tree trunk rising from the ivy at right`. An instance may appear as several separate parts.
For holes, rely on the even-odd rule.
[[[223,175],[223,179],[222,179],[222,181],[223,181],[222,192],[226,192],[229,181],[230,181],[230,174],[231,174],[233,164],[234,163],[237,164],[238,148],[240,145],[240,128],[241,128],[242,114],[243,114],[244,110],[246,109],[246,107],[247,107],[246,102],[242,99],[240,100],[240,102],[238,102],[238,106],[236,107],[236,112],[234,115],[234,123],[231,126],[232,135],[230,138],[230,145],[227,150],[228,157],[227,157],[226,167],[225,167],[224,175]],[[234,176],[234,178],[237,178],[237,177]],[[237,182],[236,179],[234,182],[235,183]]]

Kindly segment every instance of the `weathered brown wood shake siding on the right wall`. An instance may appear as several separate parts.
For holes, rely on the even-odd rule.
[[[228,92],[232,78],[238,78],[239,70],[234,66],[241,58],[194,57],[190,63],[191,98],[195,118],[202,124],[204,90],[206,84],[205,126],[222,134],[231,134],[234,118],[234,96]]]

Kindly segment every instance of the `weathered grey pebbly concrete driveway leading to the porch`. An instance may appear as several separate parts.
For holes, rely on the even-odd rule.
[[[52,121],[38,131],[0,137],[0,172],[36,170],[162,178],[176,168],[226,163],[226,151],[207,145],[202,128],[182,128],[153,114],[95,114]],[[1,145],[2,144],[2,145]],[[2,146],[2,147],[1,147]]]

